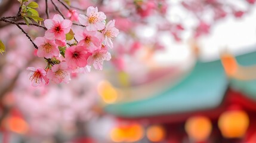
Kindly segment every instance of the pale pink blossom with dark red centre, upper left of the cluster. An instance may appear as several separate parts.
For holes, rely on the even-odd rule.
[[[44,24],[48,29],[45,32],[45,38],[62,41],[66,38],[66,33],[69,33],[72,21],[67,19],[64,20],[61,15],[55,14],[53,19],[45,20]]]

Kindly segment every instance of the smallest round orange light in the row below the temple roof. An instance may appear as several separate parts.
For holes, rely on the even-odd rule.
[[[165,129],[160,125],[153,125],[147,129],[147,138],[152,142],[162,141],[165,135]]]

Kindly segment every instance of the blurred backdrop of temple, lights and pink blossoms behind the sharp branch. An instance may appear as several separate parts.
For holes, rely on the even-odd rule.
[[[45,1],[36,2],[46,19]],[[0,22],[0,142],[256,142],[255,0],[62,2],[116,20],[112,60],[68,84],[34,88],[26,67],[44,67],[44,59]],[[19,5],[0,0],[0,17]],[[23,27],[33,39],[44,33]]]

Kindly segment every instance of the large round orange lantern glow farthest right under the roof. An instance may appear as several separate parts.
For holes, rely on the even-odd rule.
[[[232,110],[221,114],[218,127],[226,138],[240,138],[249,126],[249,117],[245,111]]]

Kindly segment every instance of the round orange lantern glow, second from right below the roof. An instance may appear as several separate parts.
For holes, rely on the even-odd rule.
[[[195,141],[205,141],[212,130],[211,120],[204,116],[190,117],[185,129],[190,138]]]

